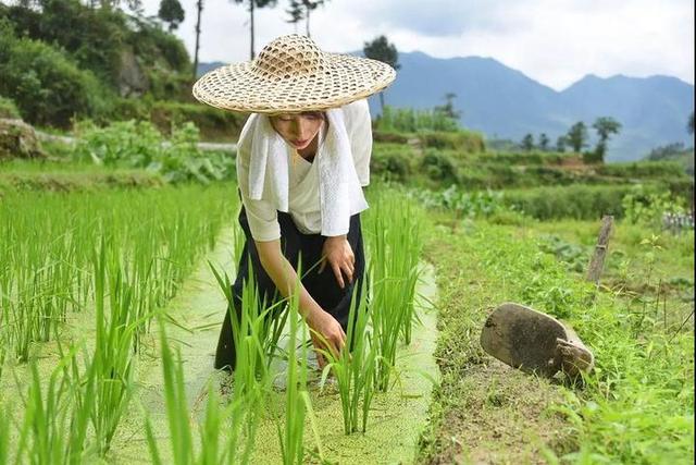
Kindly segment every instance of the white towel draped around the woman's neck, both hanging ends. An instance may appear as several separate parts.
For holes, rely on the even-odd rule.
[[[350,140],[340,109],[326,111],[328,127],[314,162],[319,163],[319,191],[322,218],[321,234],[348,233],[350,216],[368,208],[352,161]],[[249,160],[249,197],[264,198],[278,211],[288,211],[288,160],[294,149],[275,132],[269,117],[254,113],[248,133],[252,137]],[[320,134],[320,137],[322,134]]]

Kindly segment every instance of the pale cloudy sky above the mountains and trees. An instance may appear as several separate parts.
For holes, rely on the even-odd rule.
[[[179,1],[186,19],[175,34],[192,57],[197,0]],[[159,3],[144,0],[146,14]],[[286,22],[288,3],[257,10],[257,53],[279,35],[304,34],[303,22]],[[234,0],[203,0],[200,61],[248,60],[248,21]],[[494,58],[556,90],[587,74],[694,84],[693,0],[327,0],[310,27],[325,51],[361,50],[385,35],[398,51]]]

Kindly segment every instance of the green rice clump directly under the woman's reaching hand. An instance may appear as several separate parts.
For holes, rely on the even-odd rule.
[[[372,332],[369,329],[370,311],[366,305],[366,281],[364,280],[360,302],[356,304],[356,301],[353,292],[348,316],[346,348],[338,356],[334,356],[330,351],[323,351],[323,355],[330,363],[322,372],[322,387],[332,371],[338,384],[346,435],[359,429],[362,432],[366,430],[377,363],[377,347],[372,342]]]

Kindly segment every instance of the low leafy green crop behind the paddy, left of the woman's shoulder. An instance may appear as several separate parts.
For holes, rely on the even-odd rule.
[[[107,127],[84,122],[78,134],[74,156],[79,161],[144,168],[161,173],[165,181],[173,183],[209,183],[229,179],[234,173],[232,157],[222,152],[203,152],[197,147],[198,129],[192,123],[175,126],[169,143],[146,121],[115,122]]]

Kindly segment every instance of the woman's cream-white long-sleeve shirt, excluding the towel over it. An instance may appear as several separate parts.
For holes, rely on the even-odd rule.
[[[361,186],[370,184],[370,157],[372,155],[372,122],[366,100],[358,100],[341,107],[346,132],[350,139],[356,172]],[[244,130],[243,130],[244,132]],[[320,134],[322,140],[323,133]],[[319,169],[316,159],[322,156],[320,142],[313,162],[299,157],[297,161],[288,158],[288,210],[298,230],[304,234],[321,232],[321,208],[319,191]],[[256,241],[273,241],[281,237],[277,210],[270,200],[249,198],[249,157],[251,140],[237,147],[237,182],[241,192],[249,229]],[[288,155],[289,157],[289,155]]]

